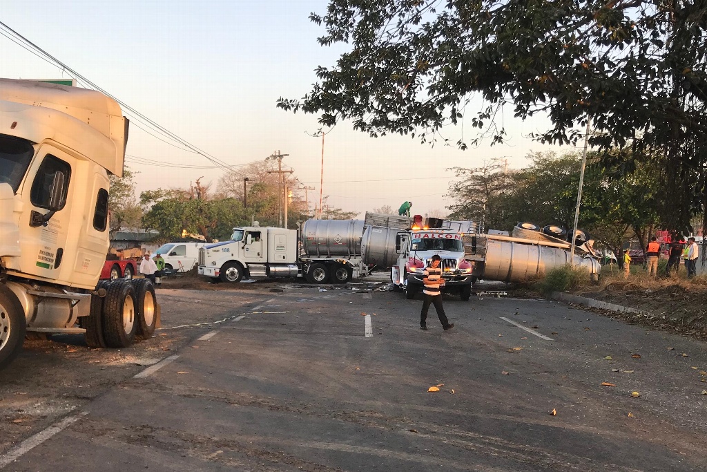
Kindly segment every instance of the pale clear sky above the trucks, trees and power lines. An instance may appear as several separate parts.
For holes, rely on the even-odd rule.
[[[315,115],[276,108],[279,97],[301,98],[316,81],[318,65],[330,67],[344,46],[321,47],[324,29],[310,12],[325,13],[325,0],[3,0],[0,20],[93,83],[187,142],[229,166],[264,160],[275,151],[318,200],[345,211],[384,205],[412,212],[444,213],[454,203],[452,167],[474,168],[494,158],[522,168],[533,151],[573,151],[527,138],[549,121],[506,118],[508,144],[461,151],[441,143],[387,136],[372,138],[350,122],[330,129],[324,143],[312,137]],[[0,76],[70,78],[65,71],[0,36]],[[510,112],[510,110],[508,110]],[[470,122],[470,120],[469,120]],[[204,156],[183,151],[144,132],[133,120],[127,165],[137,192],[186,188],[201,177],[216,188],[223,175]],[[445,129],[456,142],[470,126]],[[318,202],[317,202],[318,203]]]

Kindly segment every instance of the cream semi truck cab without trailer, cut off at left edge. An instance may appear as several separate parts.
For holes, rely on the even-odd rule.
[[[101,281],[108,174],[122,176],[128,120],[83,88],[0,79],[0,368],[25,336],[85,333],[90,347],[149,338],[151,282]]]

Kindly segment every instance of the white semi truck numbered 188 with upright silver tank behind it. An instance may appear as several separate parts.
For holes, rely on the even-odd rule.
[[[297,277],[311,283],[349,282],[368,274],[361,259],[363,221],[309,219],[300,230],[233,228],[230,241],[199,250],[199,275],[221,282]]]

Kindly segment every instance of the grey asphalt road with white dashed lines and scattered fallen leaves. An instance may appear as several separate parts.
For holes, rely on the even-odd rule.
[[[704,343],[494,294],[422,331],[359,287],[159,290],[129,350],[28,343],[0,471],[707,470]]]

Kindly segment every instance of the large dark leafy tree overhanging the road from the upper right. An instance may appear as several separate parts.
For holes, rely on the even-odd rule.
[[[377,137],[438,139],[460,120],[503,142],[503,108],[547,115],[541,142],[629,146],[633,159],[665,169],[660,212],[689,224],[706,205],[707,4],[704,1],[330,0],[320,45],[349,48],[284,110],[351,120]],[[478,98],[478,100],[477,100]],[[469,113],[475,116],[469,117]],[[448,139],[443,139],[448,142]]]

